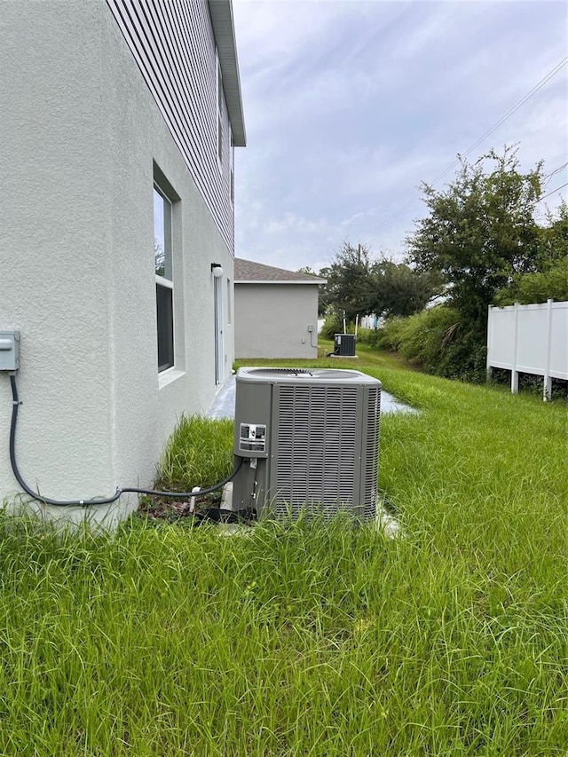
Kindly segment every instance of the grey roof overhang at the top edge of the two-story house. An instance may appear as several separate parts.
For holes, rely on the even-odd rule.
[[[208,4],[213,34],[217,43],[221,75],[223,76],[225,101],[233,130],[233,143],[236,147],[244,147],[247,144],[247,135],[242,112],[241,78],[234,36],[233,3],[232,0],[208,0]]]

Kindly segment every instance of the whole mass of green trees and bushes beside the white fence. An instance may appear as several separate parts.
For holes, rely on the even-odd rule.
[[[432,372],[480,380],[489,305],[568,300],[568,206],[537,223],[548,177],[542,162],[521,170],[516,147],[474,163],[458,158],[442,190],[422,184],[428,213],[406,237],[405,262],[377,259],[365,244],[345,241],[319,272],[327,279],[320,306],[351,322],[373,312],[412,316],[408,329],[391,321],[391,346],[397,335],[410,335]],[[436,298],[438,306],[421,313]]]

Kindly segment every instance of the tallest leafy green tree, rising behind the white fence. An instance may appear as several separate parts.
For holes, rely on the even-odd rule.
[[[418,271],[440,272],[462,322],[485,339],[487,307],[515,274],[536,267],[539,230],[534,203],[542,163],[519,171],[517,149],[493,150],[470,165],[460,158],[454,182],[438,192],[422,184],[430,215],[406,238],[408,261]],[[485,166],[493,164],[492,170]]]

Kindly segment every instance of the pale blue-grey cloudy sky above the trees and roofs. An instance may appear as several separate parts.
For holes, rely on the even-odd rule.
[[[317,272],[343,241],[401,258],[419,185],[519,143],[568,161],[568,4],[233,0],[248,146],[235,150],[238,257]],[[455,168],[436,182],[451,181]],[[546,192],[568,182],[550,177]],[[568,187],[540,202],[556,208]],[[405,207],[406,206],[406,207]]]

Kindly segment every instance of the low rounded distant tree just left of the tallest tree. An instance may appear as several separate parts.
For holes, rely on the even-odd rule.
[[[377,314],[407,316],[423,310],[440,294],[438,273],[416,271],[405,263],[384,257],[371,270],[373,294],[370,308]]]

